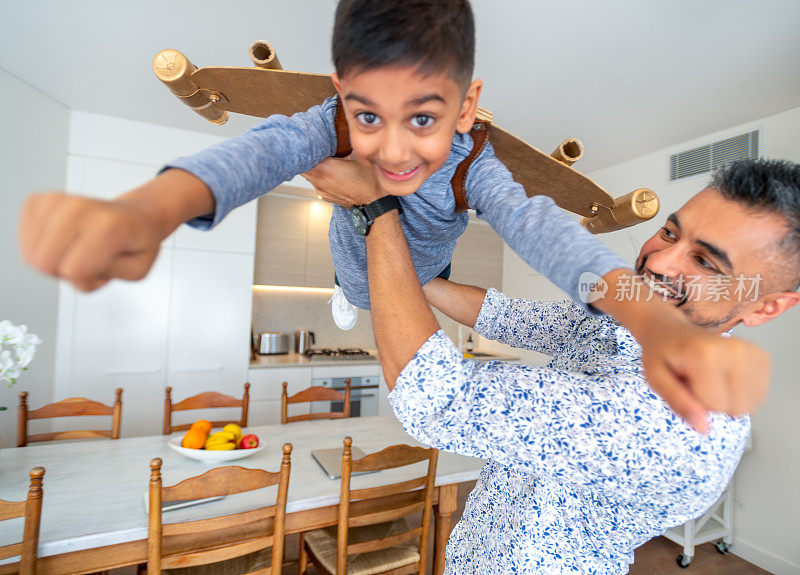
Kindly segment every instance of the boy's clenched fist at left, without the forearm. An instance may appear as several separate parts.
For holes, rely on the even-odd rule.
[[[143,278],[162,239],[156,222],[135,203],[55,192],[28,198],[19,238],[28,263],[82,291],[112,278]]]

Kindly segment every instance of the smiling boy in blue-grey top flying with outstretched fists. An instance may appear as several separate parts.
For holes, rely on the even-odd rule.
[[[616,276],[609,274],[626,269],[625,262],[550,198],[528,198],[491,146],[474,147],[468,133],[482,83],[470,81],[473,58],[474,23],[467,0],[342,0],[333,33],[338,100],[291,118],[267,118],[238,138],[176,160],[114,202],[34,198],[23,215],[23,252],[35,266],[81,289],[96,289],[112,277],[143,277],[161,239],[181,223],[210,228],[234,207],[334,155],[341,105],[354,157],[391,194],[355,215],[366,211],[374,218],[381,210],[402,209],[403,230],[423,285],[449,265],[466,228],[467,214],[455,212],[451,180],[459,164],[477,154],[463,175],[467,199],[503,240],[573,299],[578,299],[578,278],[585,272],[612,280],[613,290]],[[365,219],[357,230],[351,212],[336,206],[329,235],[342,289],[336,292],[338,303],[343,294],[368,309]],[[670,326],[646,321],[651,306],[628,302],[611,307],[607,311],[643,343],[652,342],[654,374],[663,372],[657,364],[666,367],[659,362],[674,361],[676,354],[685,359],[687,342],[721,345],[708,340],[701,345],[703,336],[697,333],[693,340],[691,328],[675,316]],[[354,316],[338,319],[347,327]],[[680,374],[690,380],[692,375]],[[753,385],[765,387],[765,382],[763,375]]]

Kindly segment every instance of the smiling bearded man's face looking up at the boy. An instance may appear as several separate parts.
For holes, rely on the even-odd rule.
[[[642,246],[636,271],[693,323],[726,331],[776,289],[789,263],[777,249],[786,231],[780,216],[706,188]]]

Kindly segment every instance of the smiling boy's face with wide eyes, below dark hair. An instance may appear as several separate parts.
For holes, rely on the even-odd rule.
[[[449,74],[411,66],[334,74],[333,81],[353,153],[395,196],[413,194],[444,165],[455,132],[472,128],[482,86],[475,80],[465,95]]]

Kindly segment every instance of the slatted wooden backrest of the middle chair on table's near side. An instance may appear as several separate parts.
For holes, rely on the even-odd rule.
[[[190,477],[171,487],[161,484],[161,459],[150,462],[150,489],[147,537],[147,573],[160,575],[162,569],[194,567],[226,561],[272,547],[272,575],[283,567],[283,545],[286,521],[286,498],[289,492],[292,445],[283,446],[280,471],[245,469],[238,466],[217,467],[202,475]],[[233,495],[278,485],[275,505],[235,515],[212,517],[183,523],[161,521],[161,503],[183,499],[202,499]],[[214,532],[234,531],[235,535],[216,540]],[[178,552],[163,554],[163,549],[179,546]],[[199,541],[198,547],[187,547],[187,541]],[[259,573],[262,573],[259,571]]]

